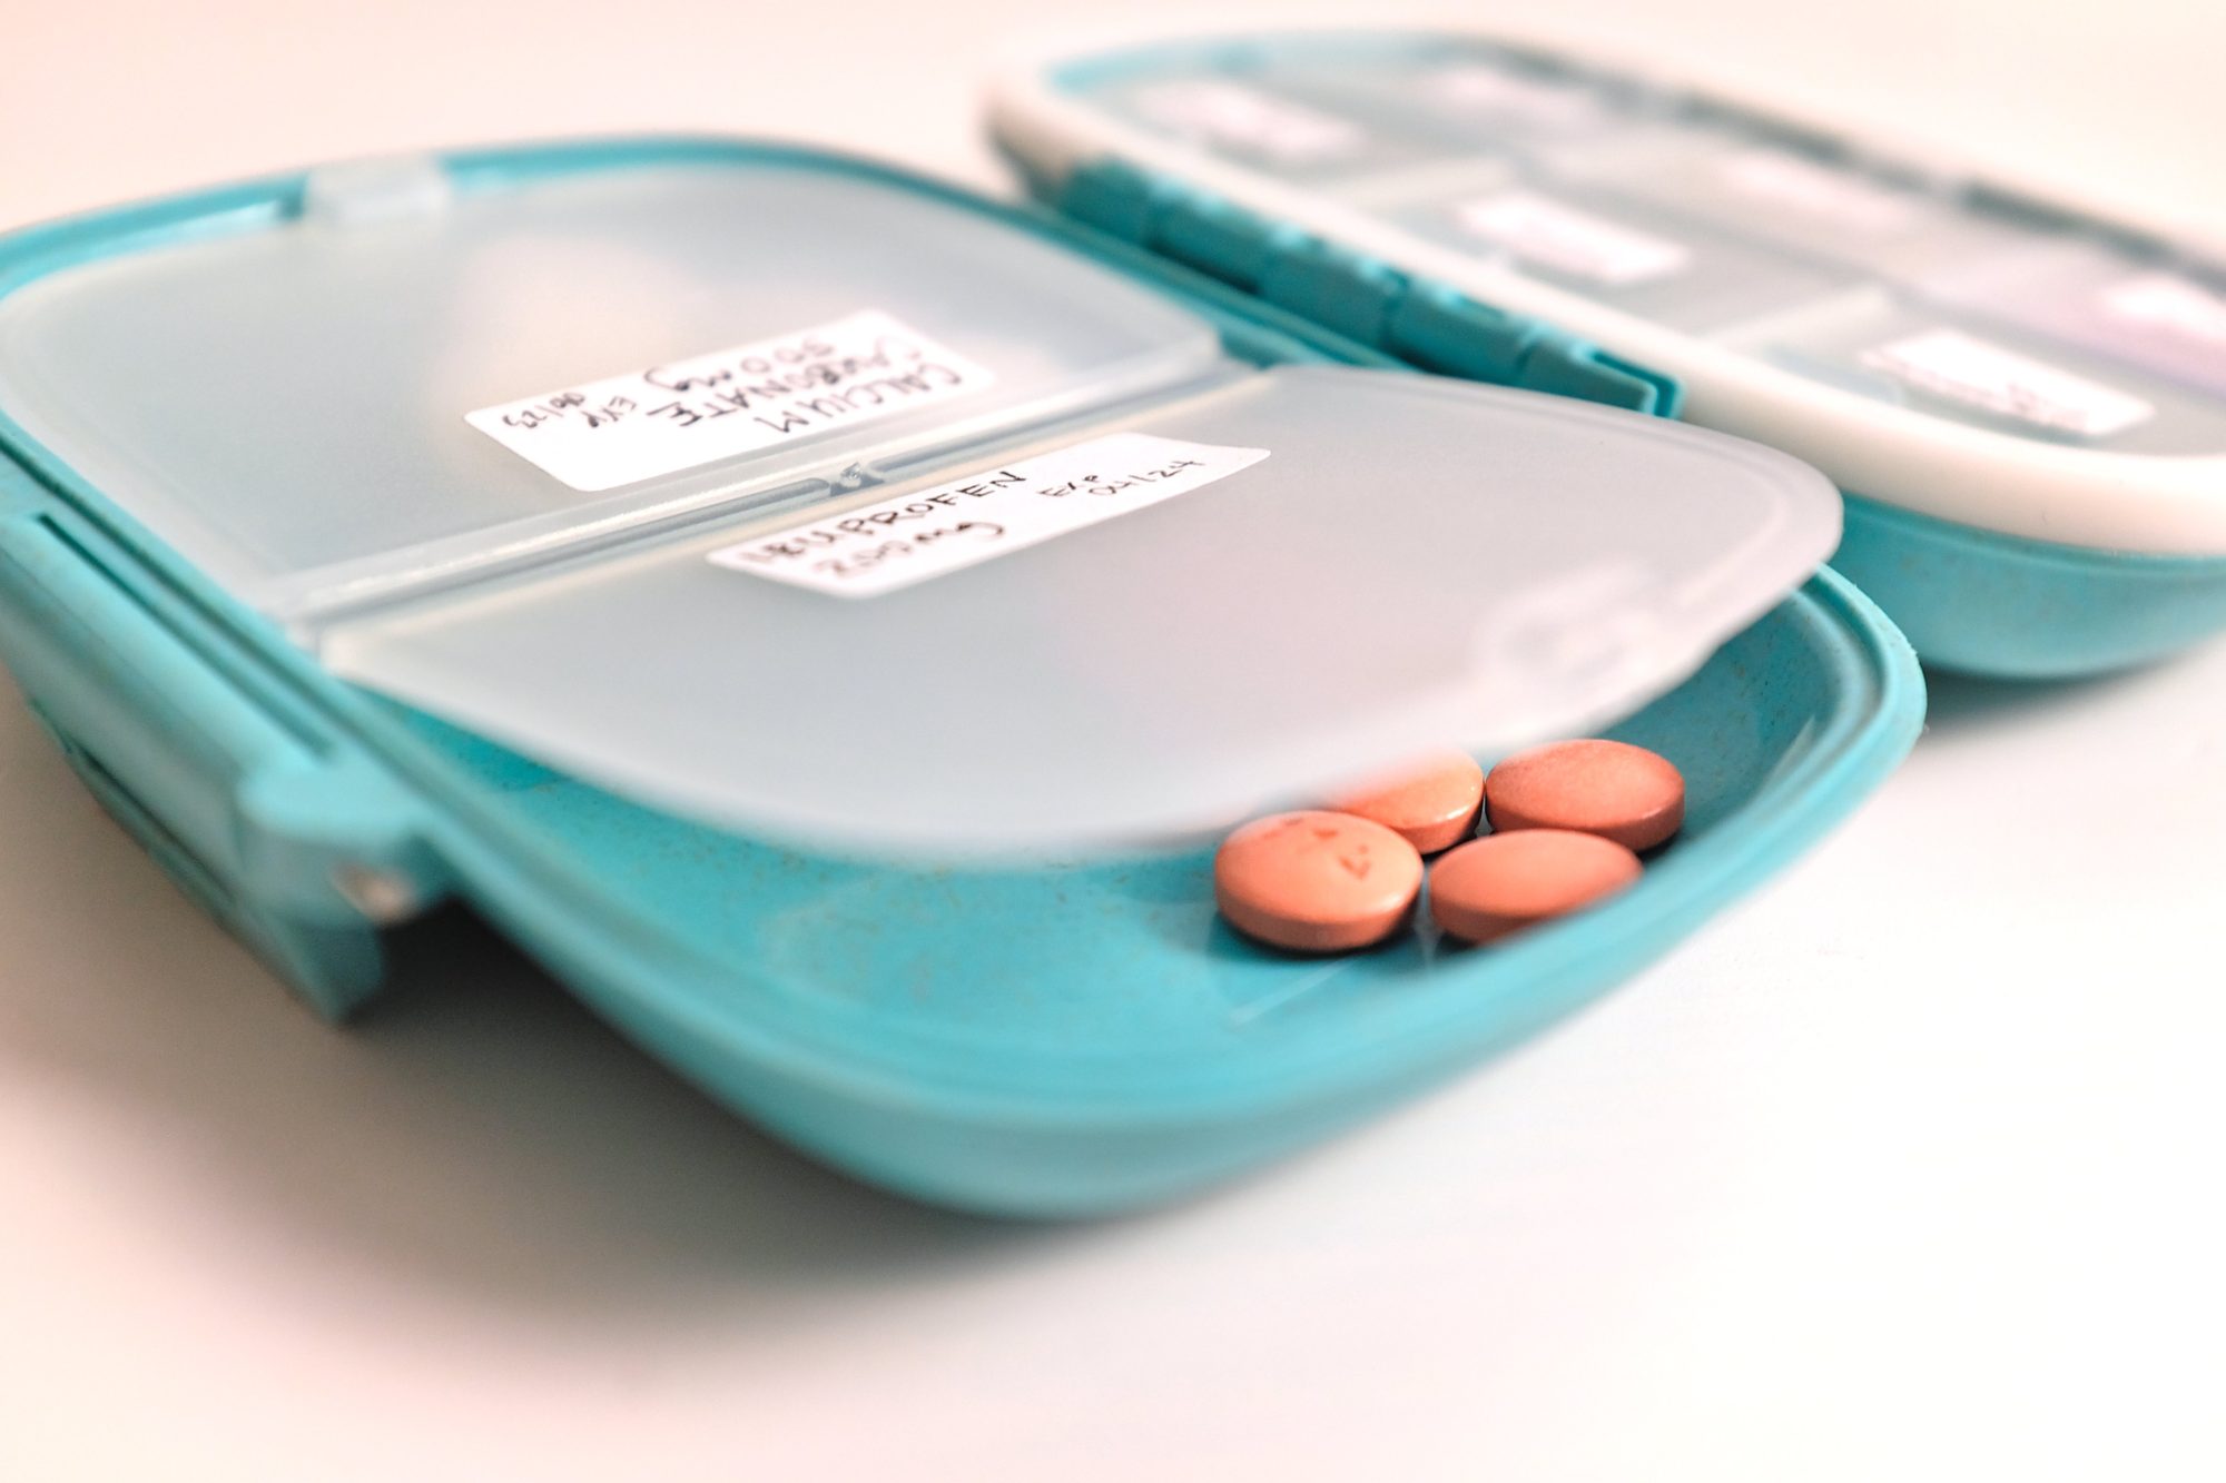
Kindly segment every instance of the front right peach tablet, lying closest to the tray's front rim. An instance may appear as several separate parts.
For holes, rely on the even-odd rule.
[[[1429,873],[1429,915],[1454,937],[1491,942],[1623,891],[1645,866],[1614,839],[1518,828],[1469,839]]]

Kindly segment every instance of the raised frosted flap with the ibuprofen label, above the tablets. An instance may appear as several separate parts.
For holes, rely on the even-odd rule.
[[[1750,443],[1278,367],[365,615],[323,652],[748,833],[1102,851],[1195,842],[1431,748],[1596,728],[1836,537],[1832,485]]]

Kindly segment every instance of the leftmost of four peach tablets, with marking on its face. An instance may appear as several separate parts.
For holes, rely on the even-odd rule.
[[[1382,942],[1420,891],[1416,848],[1349,813],[1273,813],[1229,835],[1213,857],[1222,915],[1260,942],[1300,953]]]

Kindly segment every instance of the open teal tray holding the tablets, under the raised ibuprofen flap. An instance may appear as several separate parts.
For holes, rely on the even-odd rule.
[[[879,1185],[1089,1216],[1238,1176],[1605,993],[1883,782],[1921,710],[1914,655],[1821,574],[1616,728],[1692,790],[1638,888],[1491,951],[1418,931],[1336,960],[1220,924],[1204,853],[837,864],[412,724],[481,815],[483,904],[641,1044]]]

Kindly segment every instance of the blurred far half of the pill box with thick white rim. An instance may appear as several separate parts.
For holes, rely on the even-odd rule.
[[[1046,51],[993,122],[1064,212],[1416,365],[1814,463],[1834,568],[1932,664],[2068,677],[2226,628],[2226,252],[2193,234],[1458,31]]]

